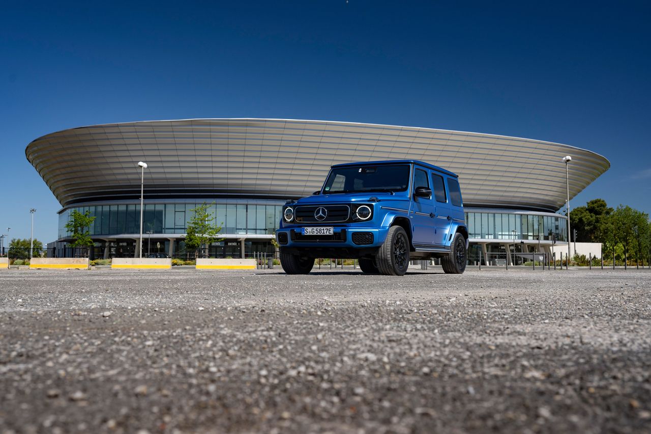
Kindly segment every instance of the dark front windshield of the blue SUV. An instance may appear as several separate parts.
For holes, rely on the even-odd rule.
[[[409,164],[337,167],[330,171],[324,194],[404,192],[409,186]]]

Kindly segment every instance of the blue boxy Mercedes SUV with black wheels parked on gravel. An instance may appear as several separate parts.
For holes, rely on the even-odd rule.
[[[417,160],[332,166],[321,190],[284,205],[276,237],[287,274],[309,273],[317,257],[390,276],[436,257],[460,274],[468,247],[457,175]]]

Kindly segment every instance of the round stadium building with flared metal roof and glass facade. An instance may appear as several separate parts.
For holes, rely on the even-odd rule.
[[[65,224],[72,210],[95,216],[92,258],[133,257],[140,233],[141,168],[145,209],[143,256],[186,253],[191,210],[207,203],[223,241],[213,257],[273,252],[271,239],[287,199],[319,190],[333,164],[415,159],[457,173],[469,227],[469,260],[506,252],[565,247],[566,164],[570,198],[610,164],[594,152],[518,137],[290,119],[187,119],[102,124],[35,139],[27,160],[62,209],[53,254],[70,255]],[[508,255],[510,262],[510,255]],[[517,255],[516,255],[517,258]]]

